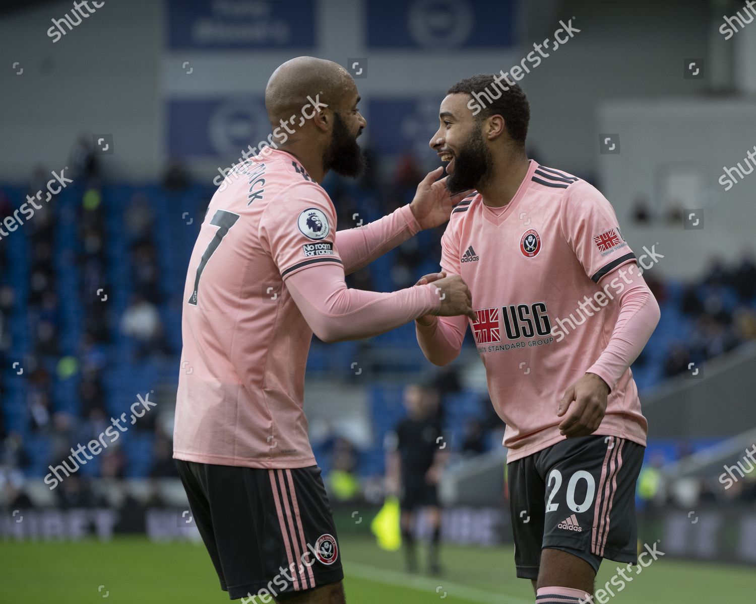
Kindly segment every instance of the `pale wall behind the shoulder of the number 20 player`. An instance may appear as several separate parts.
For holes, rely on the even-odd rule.
[[[724,168],[738,163],[748,171],[748,149],[756,153],[756,104],[748,100],[637,100],[606,103],[598,122],[603,132],[619,135],[619,155],[600,156],[602,190],[614,205],[622,234],[636,254],[656,244],[664,254],[658,270],[677,276],[697,276],[712,255],[738,257],[756,245],[756,169],[726,189],[719,183]],[[667,199],[665,174],[686,174],[687,194]],[[725,182],[725,181],[723,181]],[[703,209],[702,230],[663,220],[634,225],[634,200],[649,201],[656,217],[671,203]]]

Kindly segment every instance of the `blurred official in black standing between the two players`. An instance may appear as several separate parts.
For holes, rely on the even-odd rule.
[[[425,508],[431,529],[428,572],[438,575],[438,545],[441,541],[441,507],[438,479],[448,458],[438,421],[435,390],[419,384],[404,389],[407,418],[386,436],[386,483],[389,492],[401,495],[401,537],[407,556],[407,572],[417,571],[415,513]]]

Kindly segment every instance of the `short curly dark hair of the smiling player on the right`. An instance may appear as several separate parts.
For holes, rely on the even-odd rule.
[[[473,111],[478,121],[490,116],[502,116],[510,138],[519,146],[525,146],[530,122],[528,97],[518,84],[510,86],[506,81],[498,83],[494,81],[495,77],[497,75],[494,73],[472,75],[457,82],[446,94],[469,94],[474,100],[470,104],[475,102],[479,107],[478,112]],[[497,93],[498,97],[494,98]]]

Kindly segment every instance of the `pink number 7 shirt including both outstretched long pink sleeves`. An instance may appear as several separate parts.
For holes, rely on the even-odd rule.
[[[417,233],[409,206],[336,233],[333,203],[294,156],[276,150],[236,170],[210,202],[187,272],[174,457],[306,467],[315,463],[302,408],[313,331],[367,337],[440,300],[434,285],[384,294],[344,283]]]

